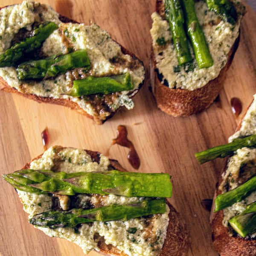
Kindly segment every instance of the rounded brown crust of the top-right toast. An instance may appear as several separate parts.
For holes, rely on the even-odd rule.
[[[156,1],[156,12],[164,17],[163,0]],[[158,79],[156,60],[153,49],[151,51],[150,76],[152,92],[157,102],[157,107],[163,112],[172,116],[190,116],[195,113],[200,113],[216,99],[219,92],[223,88],[223,82],[226,77],[228,68],[230,67],[236,49],[239,45],[240,32],[238,38],[234,42],[226,65],[221,69],[219,75],[209,81],[204,87],[196,90],[186,90],[180,88],[169,88],[162,84]]]

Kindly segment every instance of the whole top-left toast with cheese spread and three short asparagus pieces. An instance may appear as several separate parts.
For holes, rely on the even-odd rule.
[[[96,24],[77,23],[30,0],[3,7],[0,24],[0,90],[67,106],[97,124],[134,107],[143,63]]]

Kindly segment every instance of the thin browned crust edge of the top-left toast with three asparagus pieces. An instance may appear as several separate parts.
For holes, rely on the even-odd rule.
[[[0,9],[6,8],[6,7],[8,7],[8,6],[2,7]],[[70,23],[70,22],[71,23],[78,23],[76,20],[70,19],[70,18],[65,17],[63,15],[59,15],[59,19],[63,23]],[[113,40],[113,41],[115,41],[115,40]],[[119,44],[118,42],[116,42],[116,43]],[[139,58],[137,58],[137,56],[133,52],[130,52],[128,49],[125,49],[120,44],[119,44],[119,46],[121,47],[121,51],[122,51],[123,54],[131,55],[132,58],[136,58],[140,62],[140,64],[143,65],[143,62],[140,61]],[[145,80],[145,77],[144,77],[144,80]],[[138,89],[133,91],[132,96],[130,96],[130,98],[134,97],[134,95],[138,93],[138,91],[140,90],[140,88],[142,87],[142,85],[144,83],[144,80],[139,85]],[[76,102],[73,102],[69,99],[57,99],[57,98],[52,98],[52,97],[37,96],[35,94],[21,93],[17,89],[15,89],[11,85],[9,85],[1,76],[0,76],[0,90],[3,90],[4,92],[8,92],[8,93],[19,94],[19,95],[24,96],[28,99],[32,99],[32,100],[34,100],[38,103],[50,103],[50,104],[56,104],[56,105],[61,105],[61,106],[68,107],[72,110],[75,110],[75,111],[81,113],[84,116],[87,116],[90,119],[93,119],[96,122],[96,124],[98,124],[98,125],[102,125],[104,122],[106,122],[108,119],[110,119],[115,113],[117,113],[118,111],[120,111],[122,109],[125,109],[124,106],[121,106],[118,109],[116,109],[115,111],[111,112],[111,114],[109,116],[107,116],[106,119],[102,120],[102,119],[96,119],[94,116],[90,115],[84,109],[82,109]]]

